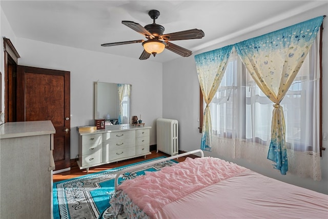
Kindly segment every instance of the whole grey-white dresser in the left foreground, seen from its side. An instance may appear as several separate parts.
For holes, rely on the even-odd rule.
[[[0,218],[52,218],[50,121],[0,126]]]

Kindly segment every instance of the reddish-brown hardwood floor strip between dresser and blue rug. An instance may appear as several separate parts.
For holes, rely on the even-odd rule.
[[[136,162],[150,160],[152,158],[159,157],[159,156],[168,156],[168,157],[170,156],[169,154],[166,154],[166,153],[163,153],[163,152],[160,152],[160,151],[158,151],[158,152],[151,151],[151,152],[152,152],[152,154],[147,155],[146,159],[144,158],[144,156],[140,156],[140,157],[131,158],[131,159],[125,160],[125,161],[119,161],[119,162],[114,162],[114,163],[111,163],[111,164],[92,167],[92,168],[89,169],[88,173],[87,173],[86,169],[80,170],[78,167],[72,167],[70,171],[53,174],[53,182],[58,182],[58,181],[62,181],[62,180],[69,180],[70,178],[83,176],[83,175],[86,175],[86,174],[89,174],[89,173],[100,172],[100,171],[103,171],[103,170],[108,170],[108,169],[119,167],[119,166],[125,166],[125,165],[133,164],[133,163],[136,163]],[[189,155],[189,156],[195,157],[195,155]],[[185,160],[186,160],[186,157],[179,157],[176,161],[182,162],[182,161],[185,161]]]

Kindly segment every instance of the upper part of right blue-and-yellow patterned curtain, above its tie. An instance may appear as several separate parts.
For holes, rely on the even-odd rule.
[[[280,83],[289,85],[294,81],[292,76],[296,76],[294,73],[298,72],[308,54],[322,19],[323,16],[316,17],[235,44],[245,67],[252,76],[258,74],[253,79],[272,102],[278,104],[288,90],[279,90]]]

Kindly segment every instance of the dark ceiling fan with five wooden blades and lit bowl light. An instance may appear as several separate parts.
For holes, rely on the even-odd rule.
[[[139,57],[140,60],[149,58],[151,54],[155,56],[156,54],[161,53],[164,49],[168,49],[183,57],[187,57],[192,54],[192,51],[177,46],[169,41],[180,41],[182,39],[197,39],[197,38],[202,38],[205,35],[202,30],[198,30],[198,29],[191,29],[191,30],[179,31],[175,33],[163,34],[165,28],[155,23],[155,19],[157,19],[159,16],[159,11],[150,10],[148,14],[153,19],[153,24],[146,25],[145,27],[142,27],[140,24],[137,24],[135,22],[122,21],[122,24],[144,35],[147,38],[146,40],[139,39],[136,41],[107,43],[107,44],[101,44],[101,46],[107,47],[107,46],[117,46],[117,45],[124,45],[124,44],[142,43],[142,46],[144,46],[144,51],[141,53]]]

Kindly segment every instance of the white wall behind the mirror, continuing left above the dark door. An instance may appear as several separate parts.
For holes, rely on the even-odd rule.
[[[99,52],[17,38],[1,9],[1,36],[10,38],[18,51],[18,65],[71,72],[71,158],[78,155],[76,126],[94,125],[94,82],[131,84],[131,115],[142,115],[152,126],[150,144],[156,144],[156,119],[162,117],[162,64],[142,62]],[[1,39],[1,48],[3,41]],[[0,71],[4,83],[4,58]],[[151,69],[151,71],[149,70]],[[2,83],[2,84],[3,84]],[[4,110],[4,85],[1,86]]]

